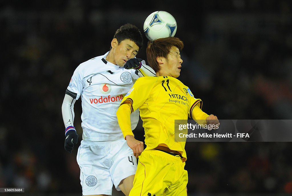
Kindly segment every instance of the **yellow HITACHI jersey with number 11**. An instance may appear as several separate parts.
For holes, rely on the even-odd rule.
[[[202,100],[194,98],[186,85],[170,76],[139,78],[121,104],[126,100],[132,102],[131,112],[139,108],[145,129],[145,150],[166,146],[180,152],[186,160],[185,141],[174,139],[175,126],[178,126],[175,120],[193,118],[192,111],[195,106],[202,107]],[[122,132],[124,137],[133,135],[131,130],[122,129]]]

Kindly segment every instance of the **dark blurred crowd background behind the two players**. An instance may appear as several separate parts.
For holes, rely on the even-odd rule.
[[[109,50],[117,28],[129,22],[142,31],[157,10],[177,21],[175,37],[185,43],[179,79],[206,113],[292,119],[292,1],[3,0],[0,187],[82,194],[81,100],[74,107],[78,144],[72,154],[64,149],[61,104],[69,80],[80,63]],[[146,44],[144,36],[137,55],[145,60]],[[135,134],[143,139],[141,121]],[[289,142],[187,142],[188,193],[292,194],[291,150]]]

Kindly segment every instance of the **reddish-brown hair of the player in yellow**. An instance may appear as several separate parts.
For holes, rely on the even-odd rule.
[[[148,60],[148,65],[155,71],[158,72],[161,67],[156,58],[158,56],[164,57],[167,59],[168,54],[170,53],[171,47],[177,47],[180,51],[183,49],[184,44],[179,38],[168,37],[168,38],[159,38],[153,42],[148,42],[146,48],[146,55]]]

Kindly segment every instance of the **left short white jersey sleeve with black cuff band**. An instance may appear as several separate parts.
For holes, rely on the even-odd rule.
[[[83,89],[83,69],[79,65],[74,71],[65,94],[70,95],[73,99],[79,99]]]

